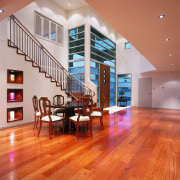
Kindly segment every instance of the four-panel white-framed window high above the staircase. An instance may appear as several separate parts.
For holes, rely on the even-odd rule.
[[[35,34],[63,44],[63,26],[35,12]]]

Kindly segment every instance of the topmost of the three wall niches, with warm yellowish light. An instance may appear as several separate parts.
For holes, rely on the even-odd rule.
[[[8,69],[7,70],[7,82],[23,84],[23,71]]]

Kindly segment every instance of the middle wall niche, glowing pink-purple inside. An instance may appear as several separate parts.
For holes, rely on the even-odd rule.
[[[23,89],[7,89],[7,102],[22,102]]]

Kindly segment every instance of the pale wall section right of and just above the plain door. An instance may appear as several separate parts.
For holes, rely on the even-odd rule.
[[[143,74],[152,78],[152,107],[180,109],[180,72]]]

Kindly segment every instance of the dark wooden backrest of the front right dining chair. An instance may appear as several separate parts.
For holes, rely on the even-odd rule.
[[[81,99],[78,101],[78,114],[90,117],[92,111],[92,104],[93,101],[91,96],[82,96]]]

